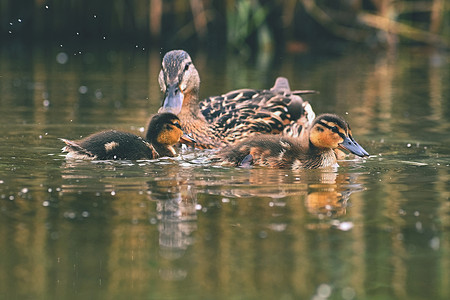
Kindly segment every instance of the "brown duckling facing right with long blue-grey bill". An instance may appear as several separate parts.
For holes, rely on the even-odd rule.
[[[300,137],[259,135],[220,150],[216,159],[234,166],[316,169],[337,166],[335,149],[369,156],[354,139],[350,126],[334,114],[318,116]]]

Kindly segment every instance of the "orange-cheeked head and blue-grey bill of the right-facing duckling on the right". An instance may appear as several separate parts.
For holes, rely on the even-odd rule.
[[[319,149],[341,148],[360,157],[369,156],[353,138],[348,123],[337,115],[318,116],[311,126],[309,141]]]

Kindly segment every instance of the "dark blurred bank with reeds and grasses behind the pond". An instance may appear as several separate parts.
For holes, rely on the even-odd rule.
[[[0,41],[254,49],[353,42],[448,48],[445,0],[2,0]]]

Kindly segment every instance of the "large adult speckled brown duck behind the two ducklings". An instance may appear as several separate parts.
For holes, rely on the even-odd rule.
[[[296,135],[315,117],[301,94],[279,77],[270,90],[240,89],[199,102],[200,76],[189,54],[164,55],[159,73],[164,100],[159,112],[177,114],[198,148],[217,148],[261,133]]]

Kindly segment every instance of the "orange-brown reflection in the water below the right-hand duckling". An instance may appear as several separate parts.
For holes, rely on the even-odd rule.
[[[221,180],[218,186],[204,182],[202,192],[235,198],[266,197],[278,202],[287,197],[300,198],[312,216],[335,218],[346,214],[352,193],[364,190],[358,176],[358,173],[338,173],[336,169],[285,172],[252,168],[240,170],[229,182]]]

